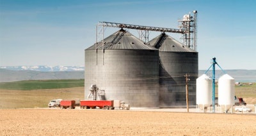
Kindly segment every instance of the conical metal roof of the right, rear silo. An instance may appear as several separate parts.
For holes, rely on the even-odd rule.
[[[164,33],[149,41],[148,44],[159,49],[159,51],[196,52]]]

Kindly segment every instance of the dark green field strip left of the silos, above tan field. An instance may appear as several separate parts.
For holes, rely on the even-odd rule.
[[[61,80],[29,80],[0,83],[0,89],[7,90],[39,90],[56,88],[73,88],[84,86],[84,79]]]

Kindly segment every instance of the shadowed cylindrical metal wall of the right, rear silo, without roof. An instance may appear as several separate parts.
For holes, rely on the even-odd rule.
[[[197,52],[159,52],[159,101],[161,106],[186,105],[186,80],[189,77],[189,105],[196,104],[196,78],[198,78]],[[170,78],[166,78],[170,77]]]

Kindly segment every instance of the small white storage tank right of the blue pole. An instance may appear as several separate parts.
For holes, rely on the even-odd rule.
[[[218,97],[220,105],[232,106],[235,104],[235,79],[228,74],[224,74],[219,79]]]

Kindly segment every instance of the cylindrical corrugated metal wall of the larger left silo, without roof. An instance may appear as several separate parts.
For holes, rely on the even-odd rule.
[[[104,62],[102,62],[104,60]],[[105,90],[107,100],[124,100],[131,107],[159,106],[157,50],[85,50],[84,97],[90,85]]]

